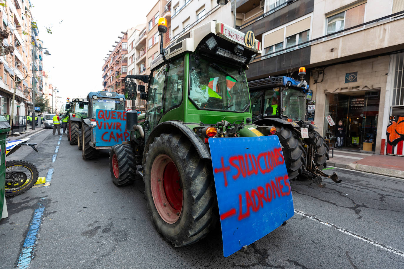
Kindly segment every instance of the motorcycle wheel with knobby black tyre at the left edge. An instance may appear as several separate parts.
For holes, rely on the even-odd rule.
[[[38,169],[27,161],[6,161],[6,197],[22,194],[38,180]]]

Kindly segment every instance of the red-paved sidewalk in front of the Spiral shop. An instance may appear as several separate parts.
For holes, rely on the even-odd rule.
[[[404,157],[334,150],[327,166],[387,175],[404,179]]]

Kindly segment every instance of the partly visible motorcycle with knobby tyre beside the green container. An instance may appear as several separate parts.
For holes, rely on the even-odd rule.
[[[18,150],[21,145],[30,146],[36,152],[36,143],[28,144],[29,138],[7,141],[6,156]],[[15,196],[32,188],[38,179],[38,169],[32,163],[21,160],[6,161],[6,188],[5,195]]]

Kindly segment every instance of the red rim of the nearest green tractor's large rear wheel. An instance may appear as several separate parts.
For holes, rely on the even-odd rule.
[[[182,186],[178,169],[166,154],[160,154],[154,159],[150,185],[158,214],[166,223],[175,223],[181,216]]]

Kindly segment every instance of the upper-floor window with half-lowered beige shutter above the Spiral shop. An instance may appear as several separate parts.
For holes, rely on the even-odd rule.
[[[365,16],[365,5],[361,4],[358,6],[347,8],[337,14],[330,14],[327,17],[327,35],[330,33],[335,33],[343,29],[359,25],[364,22]],[[351,29],[350,31],[357,30],[359,28]],[[345,32],[344,32],[345,33]],[[330,37],[335,37],[342,33],[331,35]]]

